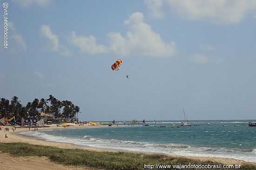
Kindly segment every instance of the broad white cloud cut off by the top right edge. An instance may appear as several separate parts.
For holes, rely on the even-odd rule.
[[[161,6],[167,4],[172,13],[182,18],[205,19],[214,23],[238,23],[246,14],[255,13],[256,0],[160,0],[146,4],[154,13],[164,13]],[[161,4],[161,5],[159,5]],[[156,11],[156,12],[155,12]]]

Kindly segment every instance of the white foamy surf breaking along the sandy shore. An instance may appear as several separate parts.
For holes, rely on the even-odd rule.
[[[187,132],[187,131],[184,131]],[[152,143],[144,141],[129,141],[118,139],[101,139],[94,136],[85,135],[77,138],[67,136],[54,136],[44,132],[21,132],[23,135],[55,141],[62,143],[72,143],[81,146],[90,146],[107,149],[121,149],[128,151],[157,152],[168,155],[184,156],[213,156],[213,157],[231,157],[256,162],[256,148],[212,148],[195,147],[185,144],[173,143]]]

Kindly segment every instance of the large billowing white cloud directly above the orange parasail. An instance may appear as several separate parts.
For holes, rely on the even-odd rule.
[[[143,21],[142,13],[133,13],[124,21],[128,27],[126,36],[112,32],[110,38],[110,50],[116,54],[147,56],[171,56],[175,54],[175,43],[165,43],[160,34],[155,33],[151,26]]]

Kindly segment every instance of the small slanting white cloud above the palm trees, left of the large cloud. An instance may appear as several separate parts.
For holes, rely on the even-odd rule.
[[[56,34],[54,34],[49,25],[42,25],[40,29],[40,34],[47,38],[53,51],[59,50],[59,38]]]

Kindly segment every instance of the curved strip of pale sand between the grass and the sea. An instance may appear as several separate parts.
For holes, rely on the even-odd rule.
[[[44,131],[44,130],[65,130],[65,129],[78,129],[78,128],[106,128],[109,127],[108,125],[106,126],[70,126],[69,128],[63,128],[62,126],[57,127],[57,126],[51,126],[51,127],[40,127],[38,128],[38,131]],[[109,128],[115,128],[119,126],[111,126]],[[0,142],[3,143],[14,143],[14,142],[23,142],[23,143],[28,143],[28,144],[33,144],[33,145],[44,145],[44,146],[54,146],[62,149],[83,149],[83,150],[88,150],[88,151],[98,151],[98,152],[116,152],[116,151],[123,151],[123,152],[132,152],[132,153],[138,153],[138,151],[127,151],[127,150],[121,150],[121,149],[109,149],[109,148],[96,148],[96,147],[90,147],[90,146],[85,146],[85,145],[75,145],[71,143],[65,143],[65,142],[54,142],[54,141],[47,141],[44,139],[39,139],[39,138],[33,138],[33,137],[28,137],[22,134],[19,134],[20,132],[28,132],[28,128],[16,128],[16,131],[11,131],[13,128],[12,126],[9,126],[10,132],[4,132],[4,129],[0,131]],[[34,132],[34,128],[33,129]],[[31,131],[31,130],[30,130]],[[7,134],[8,138],[4,138],[4,135]],[[149,154],[149,155],[156,155],[156,154],[162,154],[162,153],[152,153],[152,152],[140,152],[143,154]],[[225,157],[197,157],[197,156],[172,156],[172,155],[167,155],[168,157],[180,157],[180,158],[187,158],[191,160],[196,160],[196,161],[212,161],[216,163],[221,163],[221,164],[252,164],[256,166],[256,163],[254,162],[249,162],[249,161],[244,161],[244,160],[239,160],[239,159],[233,159],[233,158],[225,158]]]

